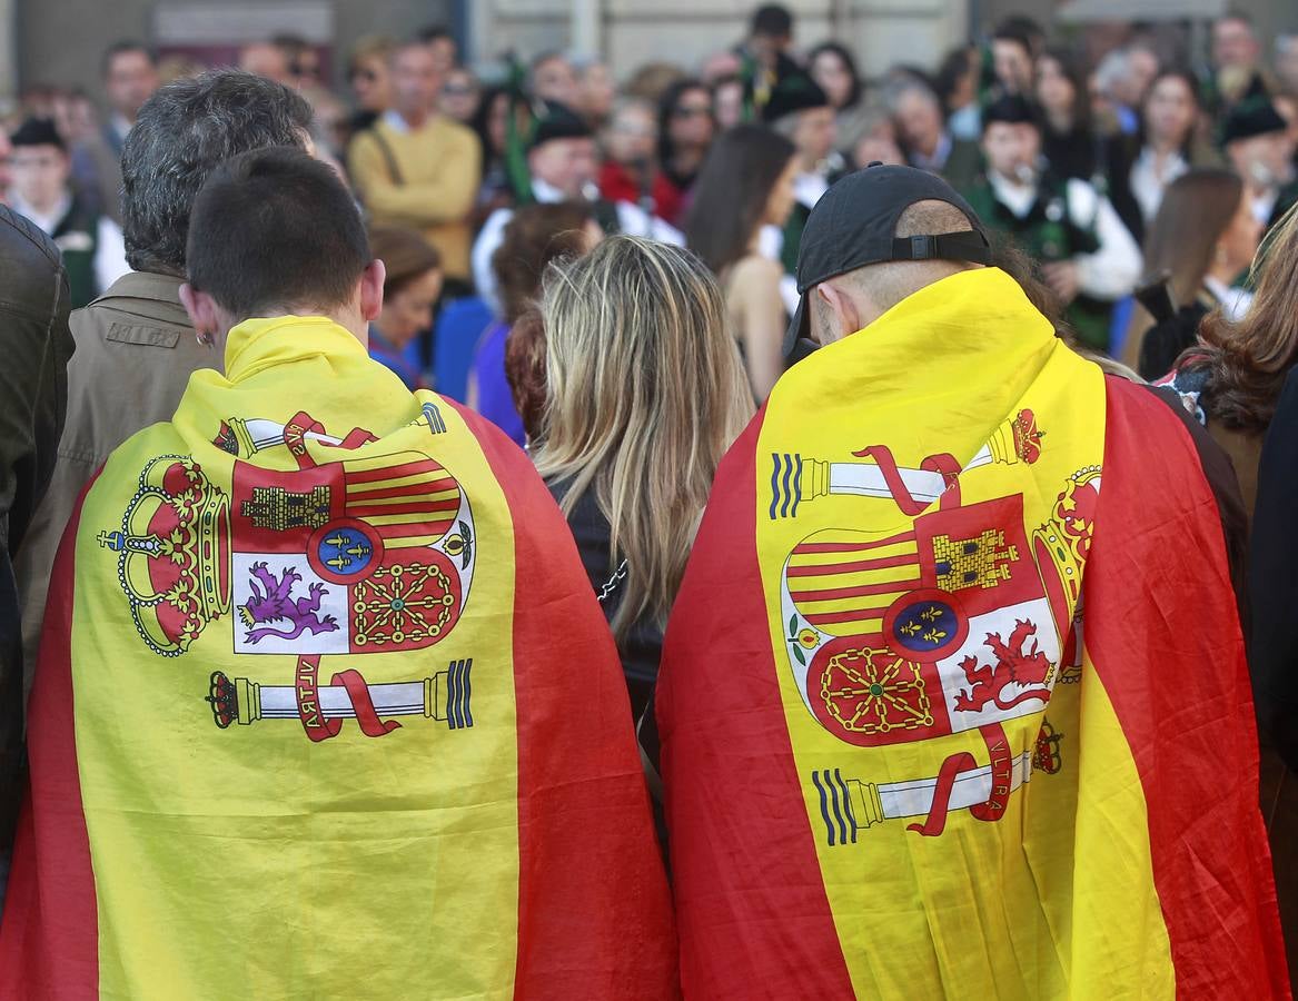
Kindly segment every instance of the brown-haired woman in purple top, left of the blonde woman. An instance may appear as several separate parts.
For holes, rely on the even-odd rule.
[[[467,404],[519,447],[527,431],[505,378],[511,328],[540,295],[545,267],[559,257],[579,257],[604,236],[588,205],[572,201],[524,205],[505,227],[492,256],[504,318],[487,327],[469,371]]]

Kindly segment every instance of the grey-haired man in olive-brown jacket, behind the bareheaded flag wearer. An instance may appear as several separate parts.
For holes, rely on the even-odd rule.
[[[310,105],[296,91],[251,73],[217,70],[156,91],[126,138],[122,217],[134,270],[71,315],[77,354],[67,367],[67,421],[16,567],[23,698],[55,550],[82,488],[122,441],[171,418],[191,373],[221,367],[180,305],[190,206],[225,160],[263,147],[305,147],[310,122]]]

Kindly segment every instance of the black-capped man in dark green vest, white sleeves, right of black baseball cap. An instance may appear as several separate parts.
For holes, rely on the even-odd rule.
[[[1001,97],[983,110],[983,156],[986,171],[966,190],[970,204],[1042,264],[1077,336],[1107,351],[1112,304],[1140,280],[1131,231],[1090,182],[1042,167],[1041,123],[1025,99]]]

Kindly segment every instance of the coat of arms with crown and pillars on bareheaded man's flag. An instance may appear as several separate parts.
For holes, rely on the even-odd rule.
[[[440,413],[434,417],[419,426],[445,434]],[[297,658],[287,684],[206,675],[218,727],[292,717],[312,740],[326,740],[344,719],[367,736],[398,728],[392,717],[402,715],[472,726],[472,658],[411,682],[370,686],[352,667],[323,684],[318,678],[326,654],[443,641],[472,584],[478,545],[459,482],[418,448],[360,451],[375,440],[362,430],[331,438],[305,413],[287,425],[226,421],[213,444],[236,456],[228,492],[191,457],[156,458],[121,528],[100,534],[118,553],[122,589],[149,649],[178,657],[226,617],[227,653]],[[326,454],[336,461],[317,461],[310,444],[332,449]],[[287,451],[296,469],[247,461],[267,449]]]

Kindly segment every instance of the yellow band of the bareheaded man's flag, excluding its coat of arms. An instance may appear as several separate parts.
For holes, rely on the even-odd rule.
[[[300,665],[292,653],[261,653],[240,639],[248,627],[238,608],[247,583],[239,569],[247,574],[249,557],[239,552],[235,499],[217,514],[232,526],[231,556],[219,567],[232,591],[215,602],[226,612],[205,621],[187,649],[164,656],[148,648],[118,578],[122,553],[112,548],[112,534],[131,527],[123,527],[123,513],[141,471],[157,470],[158,456],[192,457],[206,492],[231,497],[235,456],[213,444],[222,426],[231,427],[232,418],[286,425],[302,387],[310,387],[306,409],[324,432],[344,438],[362,427],[379,439],[354,449],[308,439],[317,469],[341,462],[349,474],[382,476],[391,457],[434,457],[467,499],[456,518],[472,522],[470,595],[437,643],[319,656],[322,691],[331,675],[349,669],[371,687],[435,679],[434,718],[380,713],[400,728],[379,736],[345,718],[336,736],[313,741],[296,714],[217,726],[205,701],[214,673],[261,684],[265,697],[267,686],[292,687]],[[241,435],[257,430],[235,427]],[[257,470],[299,465],[283,443],[249,454],[243,439],[239,449],[239,462]],[[439,565],[456,573],[467,562],[461,528],[435,543],[449,561]],[[327,319],[241,325],[230,336],[227,374],[195,374],[173,423],[156,425],[113,453],[86,500],[77,539],[71,650],[103,997],[511,996],[513,554],[506,501],[458,414],[431,393],[411,396]],[[284,561],[305,578],[291,597],[304,596],[312,579],[306,560]],[[410,567],[405,563],[408,576],[415,573]],[[147,580],[148,567],[131,563],[126,579]],[[360,601],[361,584],[354,595]],[[139,614],[157,622],[147,608]],[[345,608],[339,614],[348,617]],[[152,635],[161,635],[156,626]],[[337,635],[295,643],[309,647]],[[235,653],[239,643],[251,652]],[[474,662],[474,723],[450,728],[440,693],[448,665],[466,658]]]

